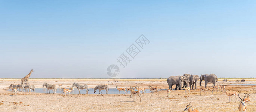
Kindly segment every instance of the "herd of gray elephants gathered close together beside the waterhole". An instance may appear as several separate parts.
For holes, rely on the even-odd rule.
[[[195,89],[197,89],[198,80],[200,80],[200,86],[201,86],[201,82],[204,80],[205,82],[204,87],[206,87],[207,83],[213,83],[213,85],[215,86],[215,83],[218,82],[218,78],[215,74],[204,74],[204,75],[201,75],[200,77],[198,75],[184,74],[183,76],[182,75],[170,76],[169,78],[167,78],[167,84],[169,85],[170,90],[172,90],[173,85],[176,85],[175,90],[177,89],[181,90],[183,86],[185,87],[189,86],[190,88],[192,86],[191,89],[194,89],[194,85],[195,85]]]

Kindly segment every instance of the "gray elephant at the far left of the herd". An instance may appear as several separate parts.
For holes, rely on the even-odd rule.
[[[172,85],[176,85],[175,90],[177,90],[177,88],[181,90],[182,82],[187,85],[188,82],[186,81],[185,76],[170,76],[167,78],[167,84],[169,85],[170,90],[172,90]]]

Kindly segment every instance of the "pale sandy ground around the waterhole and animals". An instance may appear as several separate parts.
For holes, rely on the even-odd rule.
[[[221,80],[221,81],[220,81]],[[250,102],[247,102],[247,112],[256,112],[256,86],[255,85],[232,85],[232,84],[256,84],[256,79],[246,79],[246,82],[235,82],[240,79],[228,79],[226,90],[237,91],[238,93],[250,93]],[[191,90],[191,94],[186,95],[185,90],[177,90],[171,92],[171,98],[167,98],[167,91],[159,91],[159,96],[155,92],[153,96],[151,93],[141,94],[142,102],[139,102],[139,97],[136,101],[130,98],[130,94],[72,94],[70,98],[62,97],[62,94],[46,94],[46,93],[19,93],[12,95],[9,89],[10,84],[19,84],[21,79],[1,79],[0,78],[0,111],[1,112],[20,112],[20,111],[164,111],[164,112],[182,112],[186,105],[191,102],[192,108],[198,109],[200,112],[237,112],[239,101],[235,103],[228,103],[229,97],[223,92],[216,95],[206,94],[200,96],[199,81],[197,90]],[[108,84],[110,88],[118,87],[130,88],[130,86],[138,85],[140,87],[148,87],[152,85],[162,89],[168,88],[166,79],[30,79],[28,83],[33,84],[36,88],[42,88],[42,84],[63,84],[62,87],[70,87],[74,82],[80,84],[87,84],[89,88],[94,88],[99,84]],[[204,81],[202,82],[204,85]],[[212,86],[212,83],[207,85]],[[175,87],[175,86],[173,86]],[[211,87],[212,88],[212,87]],[[57,89],[59,91],[59,89]],[[52,90],[51,90],[52,92]],[[103,91],[102,91],[103,92]],[[104,92],[105,93],[105,90]],[[243,96],[243,95],[241,95]],[[219,100],[218,100],[219,98]],[[237,96],[237,99],[238,96]]]

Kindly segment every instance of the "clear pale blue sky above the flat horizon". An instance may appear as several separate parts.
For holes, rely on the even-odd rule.
[[[1,0],[0,78],[256,77],[255,0]],[[136,43],[135,43],[136,45]]]

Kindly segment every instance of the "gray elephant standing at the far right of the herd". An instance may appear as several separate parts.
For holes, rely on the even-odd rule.
[[[200,86],[201,86],[201,82],[204,80],[205,84],[204,87],[206,87],[207,83],[213,83],[213,85],[215,86],[215,83],[218,81],[218,78],[215,74],[204,74],[200,76]]]

